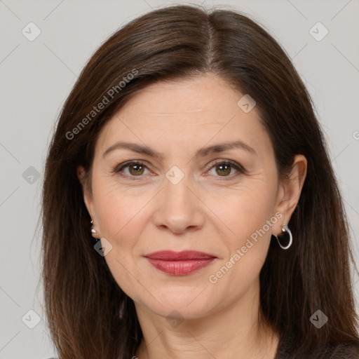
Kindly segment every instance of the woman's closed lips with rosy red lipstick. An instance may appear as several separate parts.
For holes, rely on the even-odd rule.
[[[205,252],[163,250],[145,255],[156,269],[172,276],[185,276],[210,265],[217,257]]]

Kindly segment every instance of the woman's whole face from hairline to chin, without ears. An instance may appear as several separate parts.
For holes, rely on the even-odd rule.
[[[159,316],[201,318],[255,293],[271,233],[285,222],[269,135],[256,107],[238,106],[241,97],[214,75],[158,82],[96,142],[84,199],[112,245],[104,258],[135,304]],[[213,147],[227,142],[238,146]],[[146,257],[158,251],[208,256]]]

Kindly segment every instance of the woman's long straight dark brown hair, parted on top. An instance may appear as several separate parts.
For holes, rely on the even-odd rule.
[[[93,248],[77,165],[90,172],[100,129],[142,88],[208,72],[255,99],[280,178],[294,155],[308,161],[290,219],[294,243],[281,250],[272,241],[260,272],[260,316],[282,340],[290,340],[287,358],[359,346],[348,224],[302,80],[280,45],[247,16],[171,6],[129,22],[100,46],[67,98],[50,144],[43,184],[43,284],[60,359],[131,358],[142,340],[133,300]],[[320,329],[309,320],[318,310],[329,318]]]

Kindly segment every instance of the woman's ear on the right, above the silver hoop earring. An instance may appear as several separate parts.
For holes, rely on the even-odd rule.
[[[276,212],[280,212],[283,217],[273,225],[273,234],[278,236],[281,233],[280,226],[288,224],[294,209],[297,207],[300,194],[306,178],[307,161],[302,154],[294,156],[290,176],[279,184]]]

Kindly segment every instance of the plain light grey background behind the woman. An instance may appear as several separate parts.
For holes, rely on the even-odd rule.
[[[36,225],[46,151],[60,108],[83,65],[109,34],[151,8],[169,4],[191,3],[0,1],[0,359],[55,355],[43,312],[41,228],[36,231]],[[359,1],[208,0],[203,5],[247,13],[264,25],[293,59],[323,126],[358,262]],[[22,34],[22,29],[34,34],[29,22],[41,29],[34,41]],[[321,41],[309,32],[317,22],[329,31]],[[313,31],[317,37],[324,34],[318,26]],[[357,311],[358,280],[353,272]],[[30,309],[41,318],[34,329],[27,326],[36,323]]]

